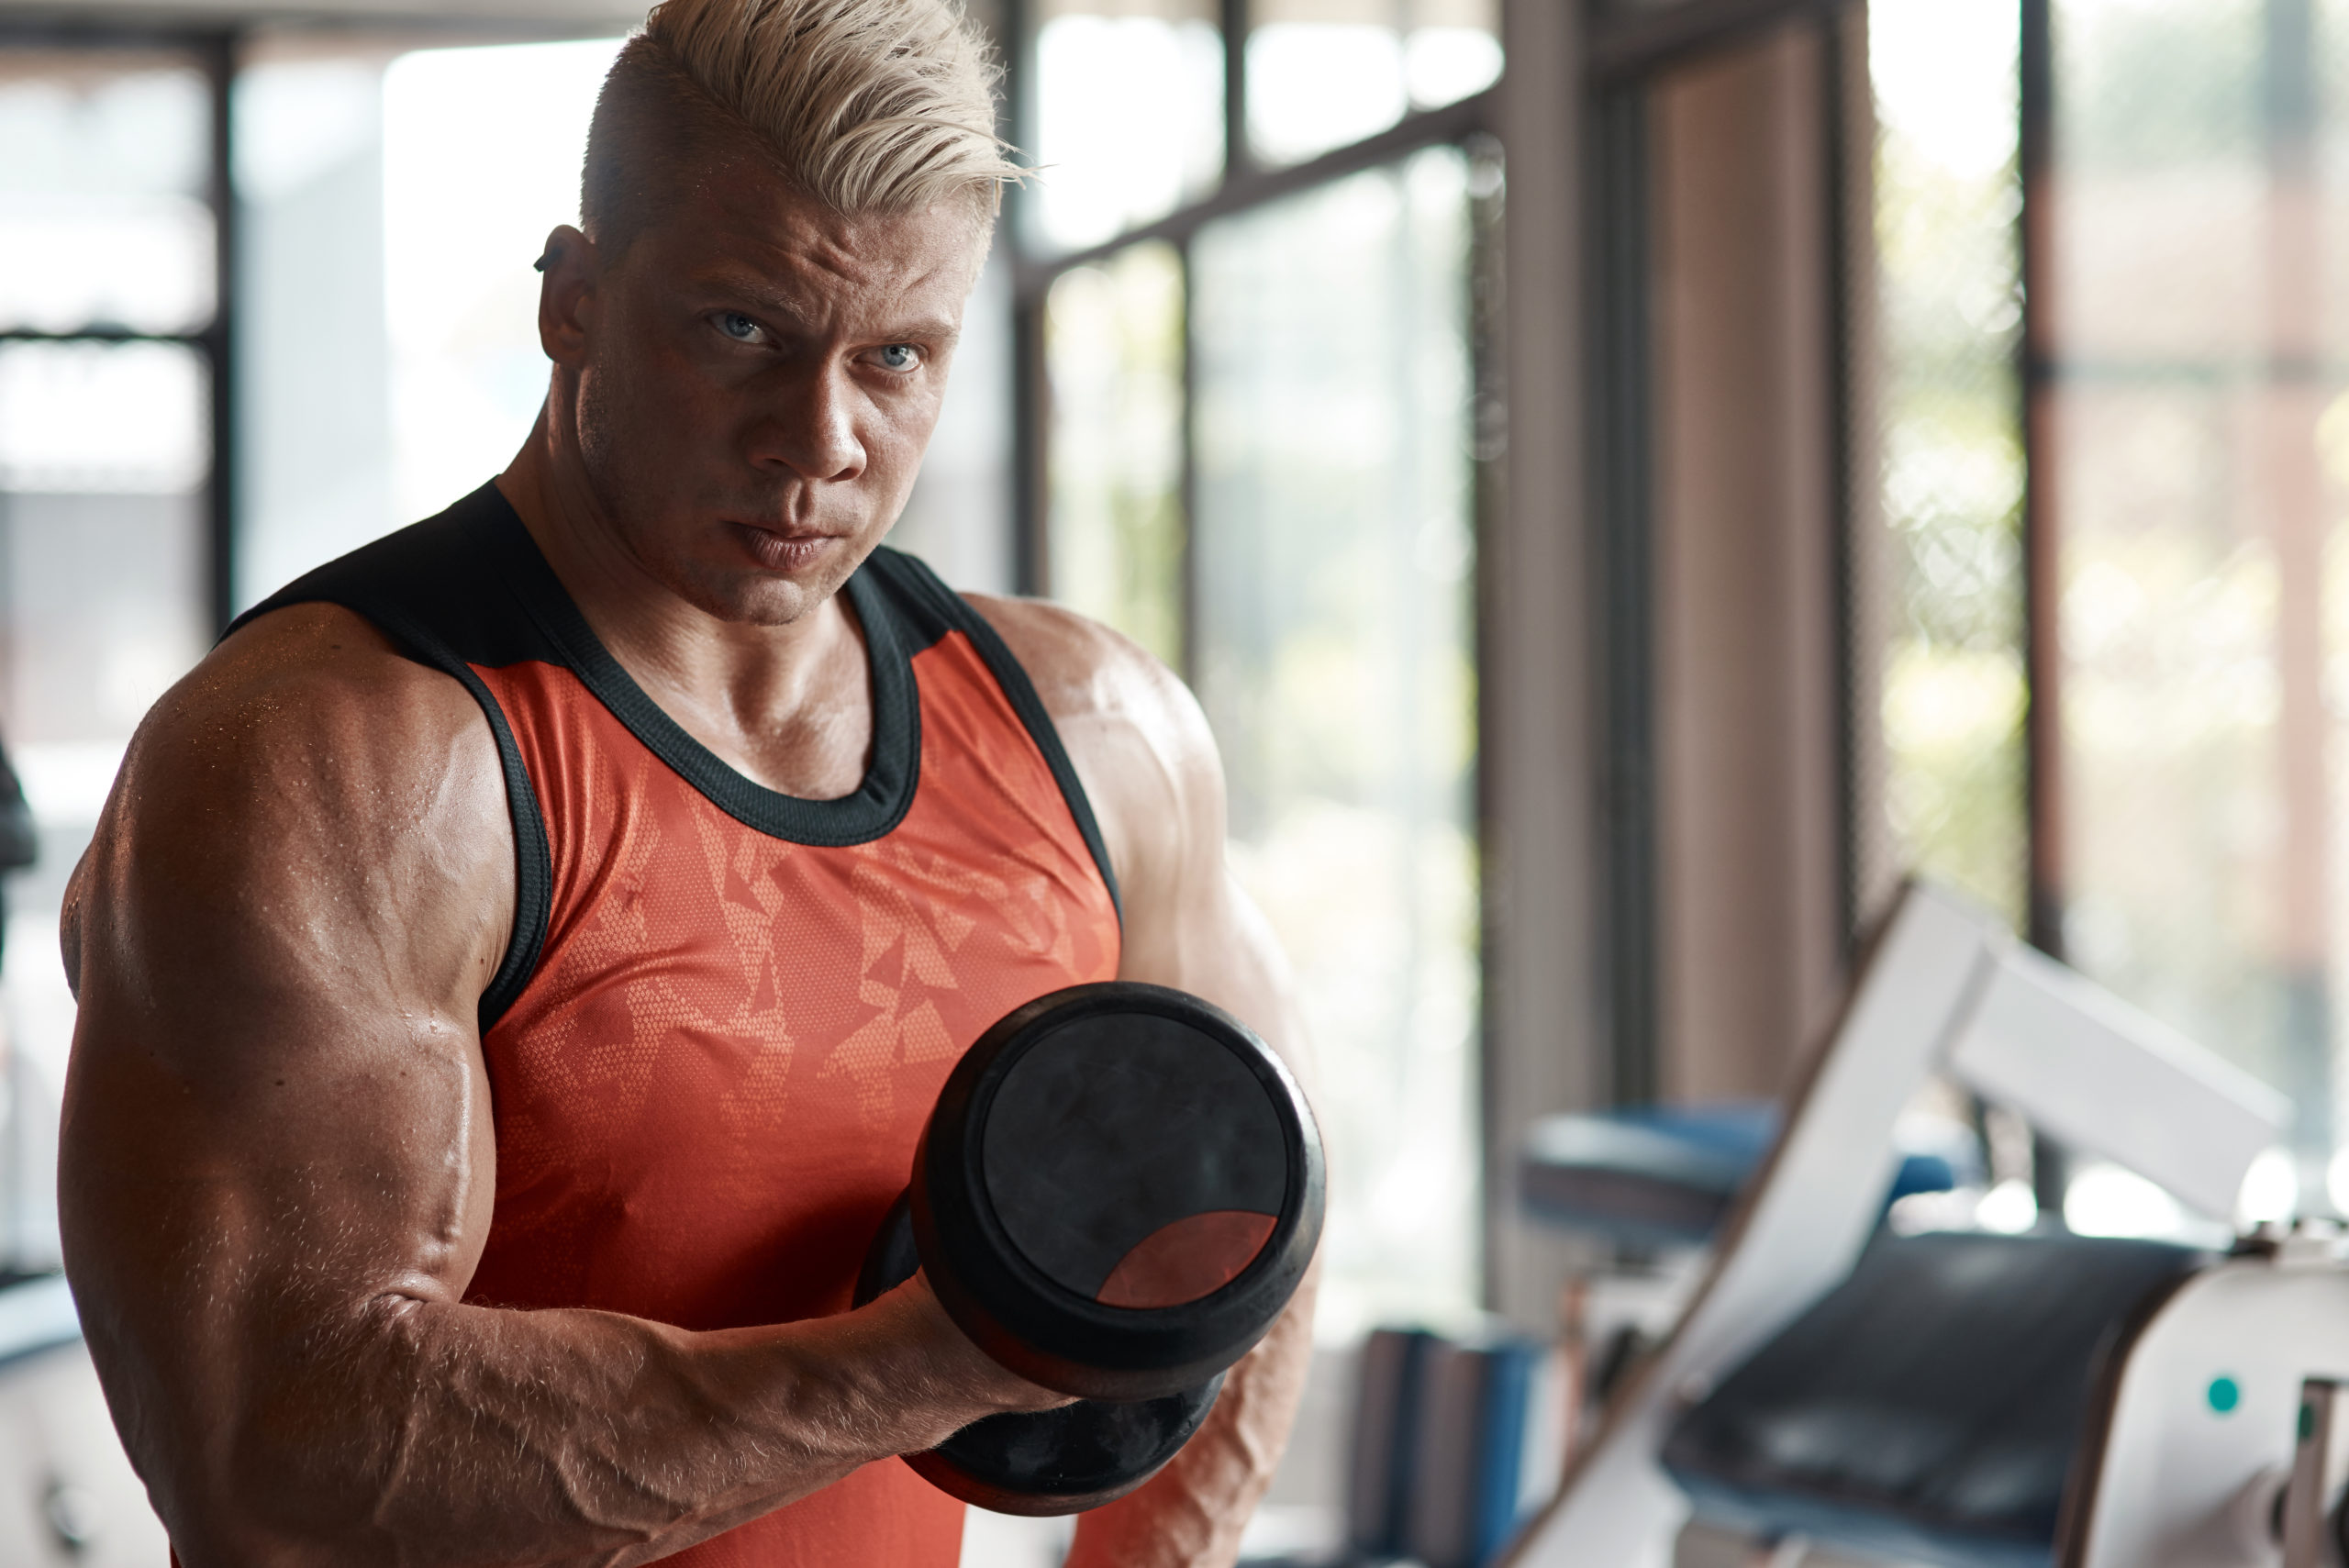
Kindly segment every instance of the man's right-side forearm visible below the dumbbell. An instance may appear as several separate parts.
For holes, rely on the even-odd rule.
[[[1313,1282],[1231,1368],[1214,1413],[1174,1462],[1130,1498],[1085,1514],[1069,1568],[1229,1568],[1273,1481],[1313,1357]]]

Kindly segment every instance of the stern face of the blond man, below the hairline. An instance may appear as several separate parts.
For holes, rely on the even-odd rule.
[[[829,599],[914,488],[984,244],[968,204],[843,218],[740,155],[604,261],[568,364],[639,566],[721,620]]]

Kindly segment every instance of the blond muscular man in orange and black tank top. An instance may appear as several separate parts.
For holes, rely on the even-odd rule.
[[[1012,176],[989,92],[949,0],[655,9],[514,465],[132,744],[61,1202],[186,1568],[949,1568],[890,1455],[1057,1397],[921,1277],[848,1310],[947,1068],[1111,974],[1294,1047],[1179,683],[874,554]],[[1233,1559],[1306,1312],[1071,1561]]]

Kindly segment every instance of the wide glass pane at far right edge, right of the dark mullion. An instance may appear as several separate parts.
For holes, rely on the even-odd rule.
[[[2304,1207],[2349,955],[2344,49],[2337,0],[2055,5],[2065,944],[2293,1094]]]

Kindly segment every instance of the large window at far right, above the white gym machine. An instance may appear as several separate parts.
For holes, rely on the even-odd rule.
[[[1870,19],[1893,831],[2286,1089],[2264,1202],[2349,1209],[2349,7]]]

